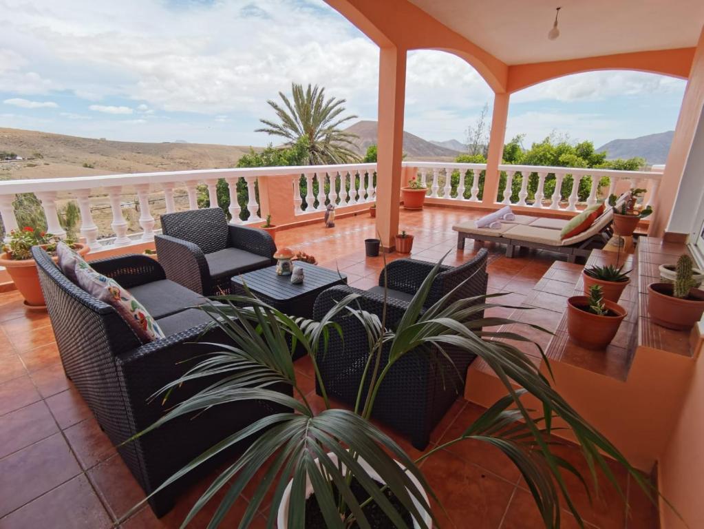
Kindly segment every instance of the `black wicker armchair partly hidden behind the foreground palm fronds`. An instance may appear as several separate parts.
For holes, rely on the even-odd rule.
[[[486,250],[482,249],[474,259],[462,266],[442,267],[443,271],[436,276],[426,305],[433,304],[467,278],[469,280],[449,301],[486,294],[486,256]],[[388,274],[386,325],[389,328],[394,328],[401,320],[408,309],[408,301],[432,266],[432,263],[413,259],[399,259],[386,266],[379,283],[383,285],[384,273]],[[338,286],[318,296],[313,317],[321,318],[336,301],[351,292],[361,295],[359,304],[362,309],[381,316],[383,288],[362,291]],[[482,316],[482,313],[477,314],[477,318]],[[337,322],[342,327],[344,341],[337,332],[331,333],[327,351],[318,357],[318,366],[327,394],[353,405],[367,360],[367,335],[357,318],[338,316]],[[411,444],[420,450],[427,447],[433,428],[455,399],[463,394],[467,368],[475,358],[467,351],[449,347],[445,351],[451,362],[432,346],[406,354],[389,370],[375,401],[374,418],[410,438]],[[382,365],[387,361],[388,354],[387,346],[382,350]],[[316,390],[320,392],[319,387]],[[366,387],[364,391],[366,394]]]

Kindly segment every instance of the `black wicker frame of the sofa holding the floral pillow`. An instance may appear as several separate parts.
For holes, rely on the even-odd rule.
[[[112,306],[68,280],[44,250],[34,247],[32,256],[37,261],[39,281],[66,376],[118,447],[120,456],[146,494],[227,435],[260,417],[283,411],[280,406],[264,402],[215,406],[202,414],[170,421],[122,444],[153,424],[167,406],[181,402],[213,382],[211,379],[184,385],[166,404],[162,404],[161,399],[149,398],[183,375],[193,366],[194,359],[213,351],[205,342],[227,343],[229,340],[219,329],[209,330],[201,337],[208,316],[199,309],[182,308],[180,312],[157,319],[167,337],[142,344]],[[132,292],[150,282],[161,285],[162,290],[168,288],[161,266],[146,256],[120,256],[91,264]],[[175,290],[182,289],[179,285],[175,287]],[[290,392],[290,389],[284,391]],[[163,516],[172,508],[184,487],[194,484],[204,472],[245,447],[246,444],[241,444],[208,461],[199,471],[185,475],[149,499],[156,516]]]

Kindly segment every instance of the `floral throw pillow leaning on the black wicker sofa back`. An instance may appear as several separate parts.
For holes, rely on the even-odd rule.
[[[127,289],[122,288],[117,281],[97,273],[83,259],[76,261],[75,275],[77,284],[83,290],[115,307],[118,314],[132,327],[134,333],[143,343],[165,337],[159,325],[144,309],[144,306]]]

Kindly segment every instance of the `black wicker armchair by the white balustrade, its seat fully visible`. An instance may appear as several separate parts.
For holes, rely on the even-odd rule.
[[[264,230],[227,223],[220,208],[161,217],[156,251],[166,277],[199,292],[230,292],[230,278],[275,264],[274,239]]]

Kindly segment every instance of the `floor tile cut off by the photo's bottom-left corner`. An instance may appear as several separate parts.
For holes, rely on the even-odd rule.
[[[0,520],[0,529],[102,529],[112,525],[84,475],[59,485]]]

